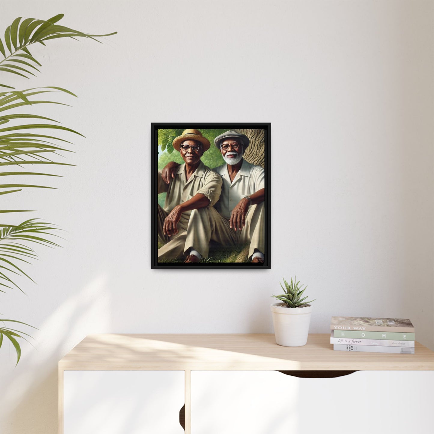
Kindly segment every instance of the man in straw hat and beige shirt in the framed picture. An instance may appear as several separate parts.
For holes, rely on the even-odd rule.
[[[158,249],[158,261],[186,256],[186,263],[199,262],[208,256],[213,226],[208,209],[220,197],[222,180],[201,161],[210,148],[201,132],[184,130],[173,147],[185,163],[168,182],[158,171],[158,193],[167,193],[164,209],[158,205],[158,240],[165,243]]]

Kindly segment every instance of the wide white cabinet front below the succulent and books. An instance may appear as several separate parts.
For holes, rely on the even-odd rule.
[[[191,434],[431,434],[433,371],[191,372]]]

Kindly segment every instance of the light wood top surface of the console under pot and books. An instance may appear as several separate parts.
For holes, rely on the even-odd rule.
[[[333,351],[330,334],[310,334],[302,347],[276,344],[273,334],[89,335],[59,362],[59,370],[434,370],[434,353]]]

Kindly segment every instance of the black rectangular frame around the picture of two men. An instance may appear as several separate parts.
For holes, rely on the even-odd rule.
[[[226,129],[252,129],[264,130],[264,171],[265,171],[265,199],[264,199],[264,263],[251,262],[158,262],[158,130],[163,129],[196,129],[196,130],[215,130]],[[271,144],[271,123],[270,122],[227,122],[227,123],[186,123],[186,122],[152,122],[151,123],[151,268],[152,269],[224,269],[224,270],[245,270],[245,269],[271,269],[271,183],[270,183],[270,144]],[[211,142],[211,146],[214,143]],[[178,152],[178,151],[174,151]]]

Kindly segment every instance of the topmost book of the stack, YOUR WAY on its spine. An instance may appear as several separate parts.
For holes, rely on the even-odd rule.
[[[332,316],[330,329],[414,333],[414,327],[411,321],[409,319],[403,318],[365,318],[361,316]]]

